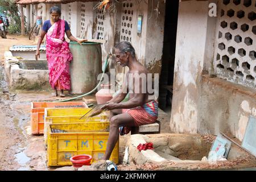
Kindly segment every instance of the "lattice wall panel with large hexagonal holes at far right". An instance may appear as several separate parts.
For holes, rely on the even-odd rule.
[[[250,15],[255,10],[255,1],[241,1],[239,5],[218,1],[214,49],[216,75],[253,89],[256,89],[256,23]]]

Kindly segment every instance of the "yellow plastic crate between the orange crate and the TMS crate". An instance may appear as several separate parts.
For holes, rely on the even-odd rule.
[[[101,114],[100,117],[82,118],[91,108],[84,109],[53,109],[47,108],[44,111],[44,146],[47,147],[48,126],[57,123],[79,123],[79,122],[107,122],[107,116]]]

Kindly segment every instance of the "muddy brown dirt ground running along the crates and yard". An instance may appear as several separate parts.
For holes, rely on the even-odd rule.
[[[61,100],[52,97],[46,90],[11,92],[8,88],[3,69],[5,51],[14,45],[35,45],[27,36],[7,35],[0,39],[0,170],[54,170],[46,166],[46,150],[43,136],[31,135],[30,109],[31,102]],[[71,97],[66,97],[71,98]],[[90,103],[95,103],[94,96],[86,97]],[[79,100],[77,100],[79,101]],[[161,133],[170,131],[170,113],[160,110]],[[119,138],[119,160],[122,163],[126,140],[129,135]]]

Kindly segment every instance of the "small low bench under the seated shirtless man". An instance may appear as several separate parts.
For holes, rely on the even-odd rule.
[[[131,135],[133,134],[158,134],[160,133],[160,121],[148,125],[141,125],[139,127],[131,128]]]

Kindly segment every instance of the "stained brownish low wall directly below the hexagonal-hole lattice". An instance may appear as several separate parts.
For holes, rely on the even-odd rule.
[[[228,133],[242,141],[249,116],[256,117],[255,90],[208,76],[200,89],[198,132]]]

